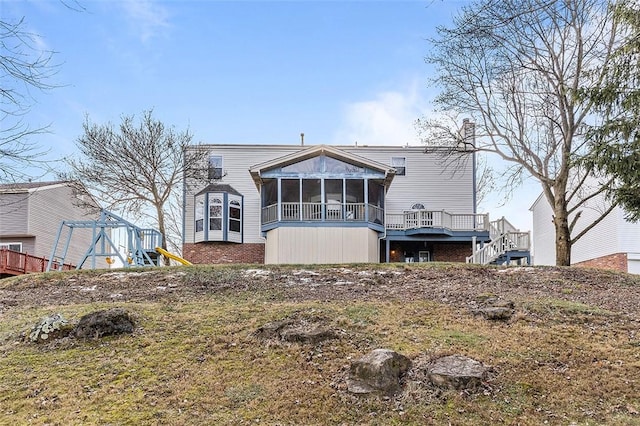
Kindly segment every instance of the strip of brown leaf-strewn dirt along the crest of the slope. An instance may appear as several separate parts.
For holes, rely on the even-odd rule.
[[[464,264],[182,267],[72,271],[0,280],[0,314],[28,306],[192,301],[211,294],[272,300],[431,300],[473,308],[488,295],[577,302],[640,321],[640,276],[583,268]]]

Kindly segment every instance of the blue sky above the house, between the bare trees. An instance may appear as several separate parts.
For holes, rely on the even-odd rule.
[[[413,122],[437,94],[426,39],[466,3],[78,1],[84,11],[0,0],[4,20],[24,17],[57,52],[60,87],[34,94],[28,115],[51,124],[34,140],[51,156],[73,153],[85,114],[119,123],[151,108],[195,142],[297,144],[304,132],[308,144],[419,144]],[[527,195],[486,208],[524,229]]]

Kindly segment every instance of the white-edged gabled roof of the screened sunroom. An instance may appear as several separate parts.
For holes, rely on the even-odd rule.
[[[387,164],[372,161],[368,158],[364,158],[359,155],[352,154],[350,152],[346,152],[328,145],[312,146],[302,151],[294,152],[292,154],[275,158],[273,160],[265,161],[264,163],[256,164],[255,166],[249,168],[249,173],[251,173],[251,177],[253,178],[256,185],[259,185],[262,180],[260,174],[265,170],[270,170],[275,167],[288,166],[289,164],[294,164],[299,161],[317,157],[323,154],[357,166],[380,171],[384,173],[385,183],[387,185],[391,183],[391,181],[393,180],[393,176],[395,175],[395,169]]]

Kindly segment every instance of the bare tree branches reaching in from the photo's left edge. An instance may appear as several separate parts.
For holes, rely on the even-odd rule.
[[[0,182],[26,178],[25,166],[42,166],[44,153],[29,139],[47,131],[31,126],[25,116],[33,105],[33,89],[48,90],[57,72],[54,52],[38,47],[37,35],[25,30],[24,19],[0,19]]]

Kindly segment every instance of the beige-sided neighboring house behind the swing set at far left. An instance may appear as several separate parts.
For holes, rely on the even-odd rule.
[[[0,184],[0,249],[49,259],[61,222],[93,219],[98,209],[67,182]],[[74,234],[65,262],[80,261],[91,241],[91,229]]]

